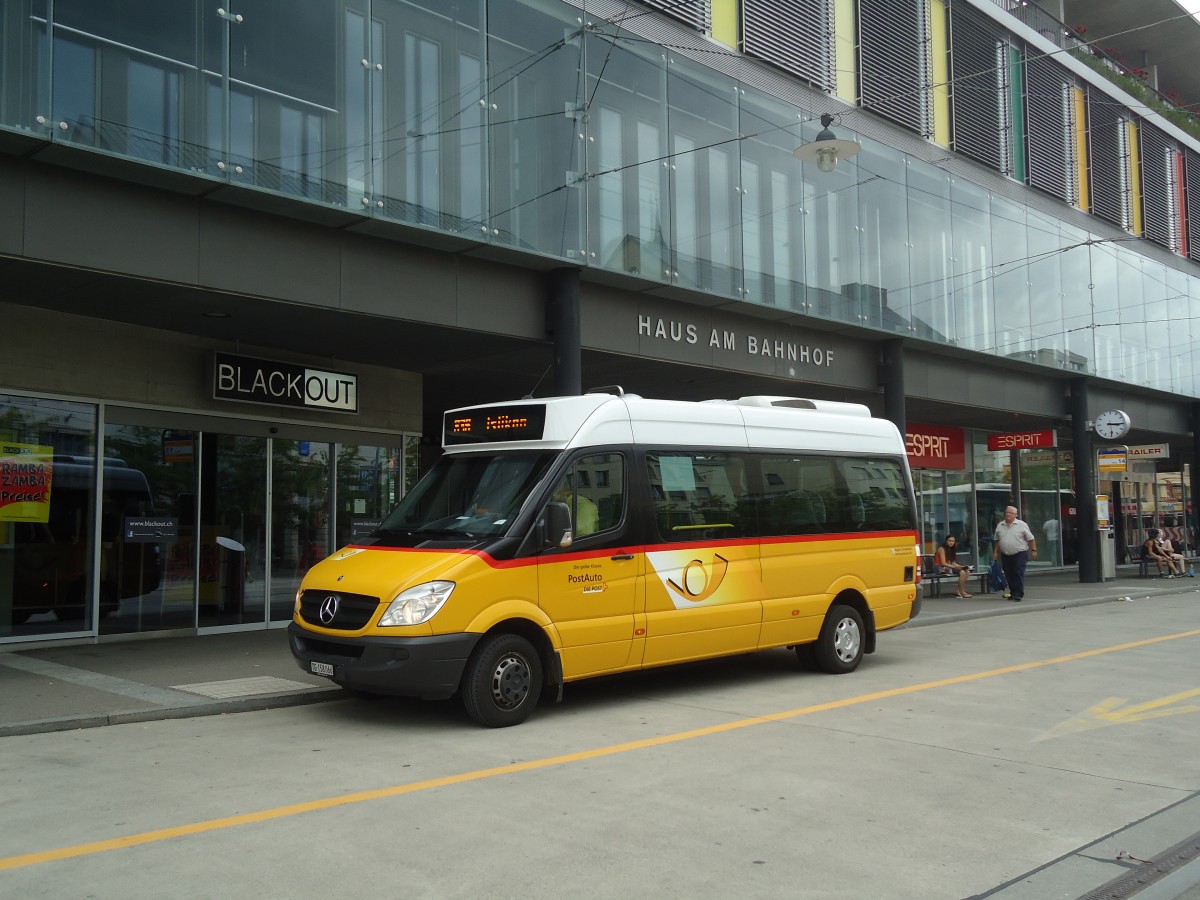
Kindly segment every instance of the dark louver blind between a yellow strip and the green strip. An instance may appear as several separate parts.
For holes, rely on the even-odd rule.
[[[1007,175],[1004,34],[965,4],[950,7],[954,149]]]

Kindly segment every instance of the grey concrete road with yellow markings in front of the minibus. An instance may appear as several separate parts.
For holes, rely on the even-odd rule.
[[[569,685],[497,731],[344,701],[5,737],[0,896],[1076,898],[1200,833],[1196,598]]]

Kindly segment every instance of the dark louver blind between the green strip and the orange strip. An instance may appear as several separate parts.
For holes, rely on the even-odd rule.
[[[1033,56],[1025,61],[1028,115],[1030,184],[1076,203],[1073,80],[1055,62]]]

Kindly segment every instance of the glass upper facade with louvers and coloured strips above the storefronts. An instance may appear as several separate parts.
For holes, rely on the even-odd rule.
[[[893,22],[902,5],[863,0],[846,24],[829,0],[790,0],[828,25],[794,47],[756,28],[772,5],[734,5],[766,62],[715,41],[677,50],[638,30],[658,13],[598,6],[607,18],[556,0],[5,0],[0,128],[635,283],[1200,396],[1184,185],[1156,180],[1194,150],[1148,110],[1102,104],[984,16],[994,4],[916,0]],[[698,6],[680,26],[715,34],[730,5]],[[959,68],[991,60],[985,83],[947,65],[948,34]],[[878,127],[853,107],[835,128],[862,152],[832,173],[797,162],[834,106],[814,88],[845,95],[847,65],[859,109],[1013,190],[869,137]],[[1039,202],[1022,202],[1026,185]]]

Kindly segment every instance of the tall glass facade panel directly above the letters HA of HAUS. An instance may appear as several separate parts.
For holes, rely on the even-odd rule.
[[[670,280],[666,65],[614,36],[588,35],[588,262]]]

